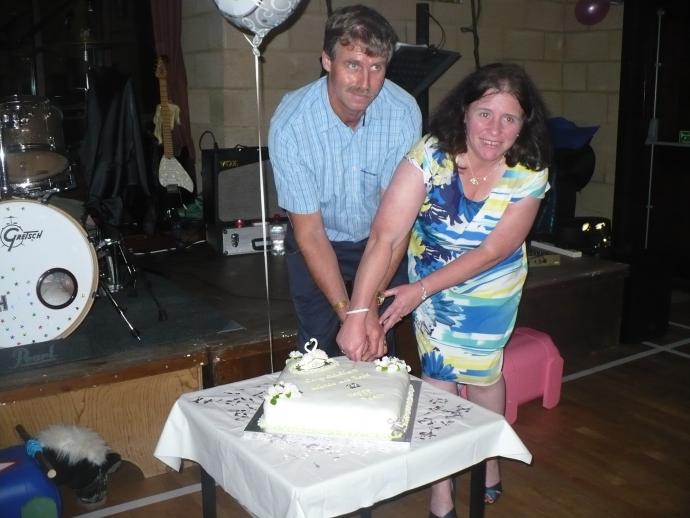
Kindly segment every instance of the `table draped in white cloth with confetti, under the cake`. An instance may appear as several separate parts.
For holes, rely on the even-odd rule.
[[[472,466],[480,468],[473,472],[472,486],[482,504],[475,515],[481,515],[484,460],[532,459],[503,416],[427,383],[422,383],[409,448],[245,434],[277,376],[182,395],[168,415],[154,455],[175,470],[182,459],[198,463],[260,518],[338,516]]]

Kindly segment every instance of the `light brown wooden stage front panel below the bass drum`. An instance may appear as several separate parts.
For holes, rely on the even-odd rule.
[[[201,388],[199,366],[163,374],[61,392],[0,406],[0,447],[19,443],[22,424],[38,433],[51,424],[76,424],[98,432],[144,476],[164,473],[153,457],[158,437],[177,398]]]

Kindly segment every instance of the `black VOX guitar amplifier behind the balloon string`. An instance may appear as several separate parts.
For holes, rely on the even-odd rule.
[[[280,214],[268,148],[261,148],[267,220]],[[201,152],[204,222],[209,225],[237,220],[261,220],[259,148],[235,146]]]

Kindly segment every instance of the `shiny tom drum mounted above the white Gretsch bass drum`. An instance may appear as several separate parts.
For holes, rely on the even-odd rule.
[[[11,192],[73,187],[59,108],[42,97],[13,95],[0,104],[0,128]]]

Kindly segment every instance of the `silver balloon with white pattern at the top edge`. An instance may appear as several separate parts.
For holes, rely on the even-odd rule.
[[[286,21],[302,0],[214,0],[223,16],[235,27],[255,35],[259,45],[264,36]]]

